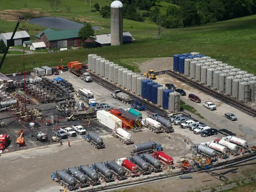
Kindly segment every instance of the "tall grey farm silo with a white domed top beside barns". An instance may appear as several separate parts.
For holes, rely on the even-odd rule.
[[[111,9],[111,45],[123,44],[123,4],[113,1]]]

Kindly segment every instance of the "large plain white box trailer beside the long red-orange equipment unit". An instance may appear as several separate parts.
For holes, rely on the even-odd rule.
[[[116,116],[112,115],[111,113],[105,110],[97,111],[97,121],[99,121],[106,127],[110,128],[111,130],[113,130],[115,127],[122,128],[121,119],[117,118]]]

